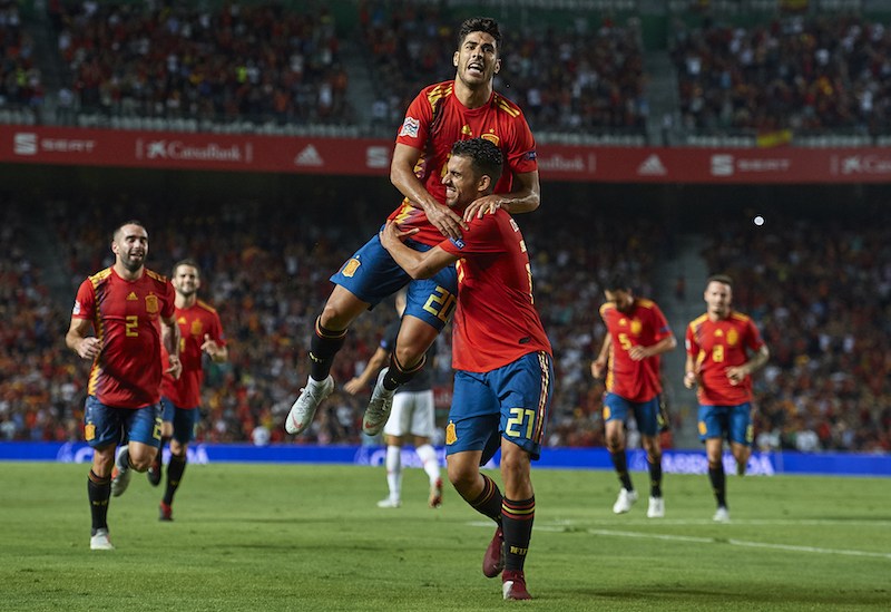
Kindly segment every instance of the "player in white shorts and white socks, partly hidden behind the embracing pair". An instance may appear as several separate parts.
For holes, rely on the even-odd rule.
[[[381,346],[369,360],[365,370],[358,377],[343,386],[347,394],[355,395],[371,377],[390,358],[396,343],[399,324],[402,313],[405,311],[405,290],[400,289],[395,295],[396,312],[399,319],[391,322],[383,332]],[[431,344],[427,351],[427,360],[431,361],[437,357],[437,344]],[[431,389],[431,377],[427,370],[422,370],[410,382],[399,387],[393,396],[393,411],[383,427],[383,435],[386,439],[386,485],[390,495],[386,499],[378,502],[382,508],[398,508],[402,505],[402,446],[405,438],[411,434],[414,437],[414,451],[421,458],[424,472],[430,478],[430,497],[428,505],[438,508],[442,505],[442,478],[439,475],[439,458],[435,449],[430,446],[430,438],[435,428],[435,412],[433,409],[433,389]]]

